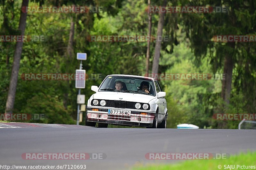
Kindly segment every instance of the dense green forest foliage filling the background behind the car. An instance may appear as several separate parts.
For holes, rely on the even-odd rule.
[[[2,0],[0,4],[1,35],[17,35],[21,0]],[[168,104],[167,127],[180,123],[200,128],[237,128],[239,121],[217,121],[215,113],[255,113],[256,56],[255,42],[228,43],[212,41],[214,35],[255,35],[256,3],[239,0],[167,1],[167,6],[226,5],[229,13],[167,13],[164,18],[159,73],[223,73],[224,60],[234,61],[229,103],[221,97],[221,80],[163,80]],[[160,3],[160,4],[159,4]],[[28,13],[25,35],[44,36],[42,42],[24,42],[20,60],[14,113],[45,114],[38,123],[74,124],[77,104],[75,81],[22,80],[23,73],[74,73],[79,68],[77,52],[86,52],[83,68],[89,75],[82,89],[86,101],[93,94],[92,85],[99,85],[108,74],[145,74],[147,42],[90,42],[90,35],[148,35],[147,1],[29,1],[29,6],[64,5],[102,6],[101,13]],[[151,2],[159,6],[161,2]],[[159,15],[152,14],[152,35],[156,36]],[[233,22],[234,21],[234,22]],[[71,57],[68,41],[74,22]],[[149,70],[152,67],[155,41],[151,43]],[[0,113],[4,113],[12,72],[15,42],[0,42]],[[150,71],[149,71],[150,72]],[[92,79],[92,74],[100,74]],[[30,121],[32,122],[32,120]],[[82,122],[81,124],[84,124]]]

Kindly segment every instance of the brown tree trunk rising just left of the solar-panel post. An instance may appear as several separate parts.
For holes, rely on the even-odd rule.
[[[73,58],[73,42],[74,42],[74,32],[75,32],[75,23],[73,21],[73,17],[71,16],[70,21],[70,30],[69,30],[69,39],[68,39],[68,47],[67,47],[67,57],[66,57],[66,64],[72,62]],[[69,70],[67,70],[69,71]],[[69,89],[69,80],[67,80],[67,88]],[[67,110],[68,108],[68,91],[65,91],[63,94],[63,106]]]

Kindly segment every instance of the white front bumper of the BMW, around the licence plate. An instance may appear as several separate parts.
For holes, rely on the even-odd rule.
[[[94,111],[92,109],[99,109],[99,111]],[[108,108],[114,110],[122,110],[117,108]],[[100,122],[115,125],[124,126],[142,126],[142,127],[152,127],[153,120],[156,112],[148,112],[146,110],[138,111],[131,110],[131,116],[123,115],[110,115],[108,114],[108,109],[101,107],[87,107],[87,121],[88,122]],[[141,115],[140,112],[146,112],[150,115]]]

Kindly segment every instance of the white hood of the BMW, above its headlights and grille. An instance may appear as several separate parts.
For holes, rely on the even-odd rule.
[[[123,92],[97,92],[93,95],[93,99],[104,100],[123,100],[129,102],[149,103],[150,100],[156,98],[156,96],[143,95],[137,93],[123,93]]]

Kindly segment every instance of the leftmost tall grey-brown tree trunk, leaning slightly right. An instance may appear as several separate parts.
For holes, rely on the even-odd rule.
[[[28,0],[22,0],[22,6],[28,6]],[[20,11],[20,23],[19,23],[20,35],[24,35],[25,33],[26,20],[27,20],[27,13],[23,13],[22,11]],[[23,46],[23,42],[16,43],[13,64],[12,64],[12,75],[11,75],[8,96],[7,96],[6,106],[5,106],[5,113],[12,113],[13,111],[17,82],[18,82],[18,74],[20,69],[20,57],[22,53],[22,46]]]

